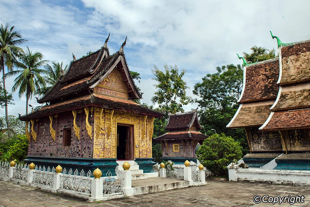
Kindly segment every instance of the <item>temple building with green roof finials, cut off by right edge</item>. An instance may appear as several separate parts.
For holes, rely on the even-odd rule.
[[[310,170],[310,40],[272,38],[278,58],[243,59],[240,106],[227,127],[245,128],[250,153],[243,161],[250,168]]]

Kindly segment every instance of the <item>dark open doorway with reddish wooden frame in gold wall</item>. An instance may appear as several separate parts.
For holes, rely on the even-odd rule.
[[[134,160],[133,125],[117,124],[116,158]]]

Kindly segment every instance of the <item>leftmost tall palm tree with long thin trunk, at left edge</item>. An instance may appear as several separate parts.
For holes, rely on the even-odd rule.
[[[10,27],[9,23],[6,23],[4,26],[1,24],[0,26],[0,70],[2,70],[3,75],[2,82],[4,91],[6,91],[4,65],[7,66],[8,71],[12,70],[18,52],[22,51],[22,49],[16,45],[20,45],[27,41],[21,38],[21,34],[18,31],[14,30],[14,26]],[[5,119],[7,122],[7,134],[8,137],[10,137],[7,101],[5,101]]]

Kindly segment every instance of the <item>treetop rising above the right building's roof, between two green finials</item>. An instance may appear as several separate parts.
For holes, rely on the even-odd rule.
[[[242,53],[247,63],[265,61],[276,57],[274,48],[272,50],[268,50],[265,47],[257,47],[254,45],[250,49],[252,50],[250,54],[246,52]]]

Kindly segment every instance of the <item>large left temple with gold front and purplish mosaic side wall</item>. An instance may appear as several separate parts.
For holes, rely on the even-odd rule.
[[[115,172],[117,160],[135,160],[152,171],[153,121],[163,114],[133,101],[142,96],[123,52],[126,40],[110,55],[108,38],[96,52],[73,55],[68,72],[37,100],[46,105],[19,117],[29,140],[25,162],[99,167],[104,174]]]

